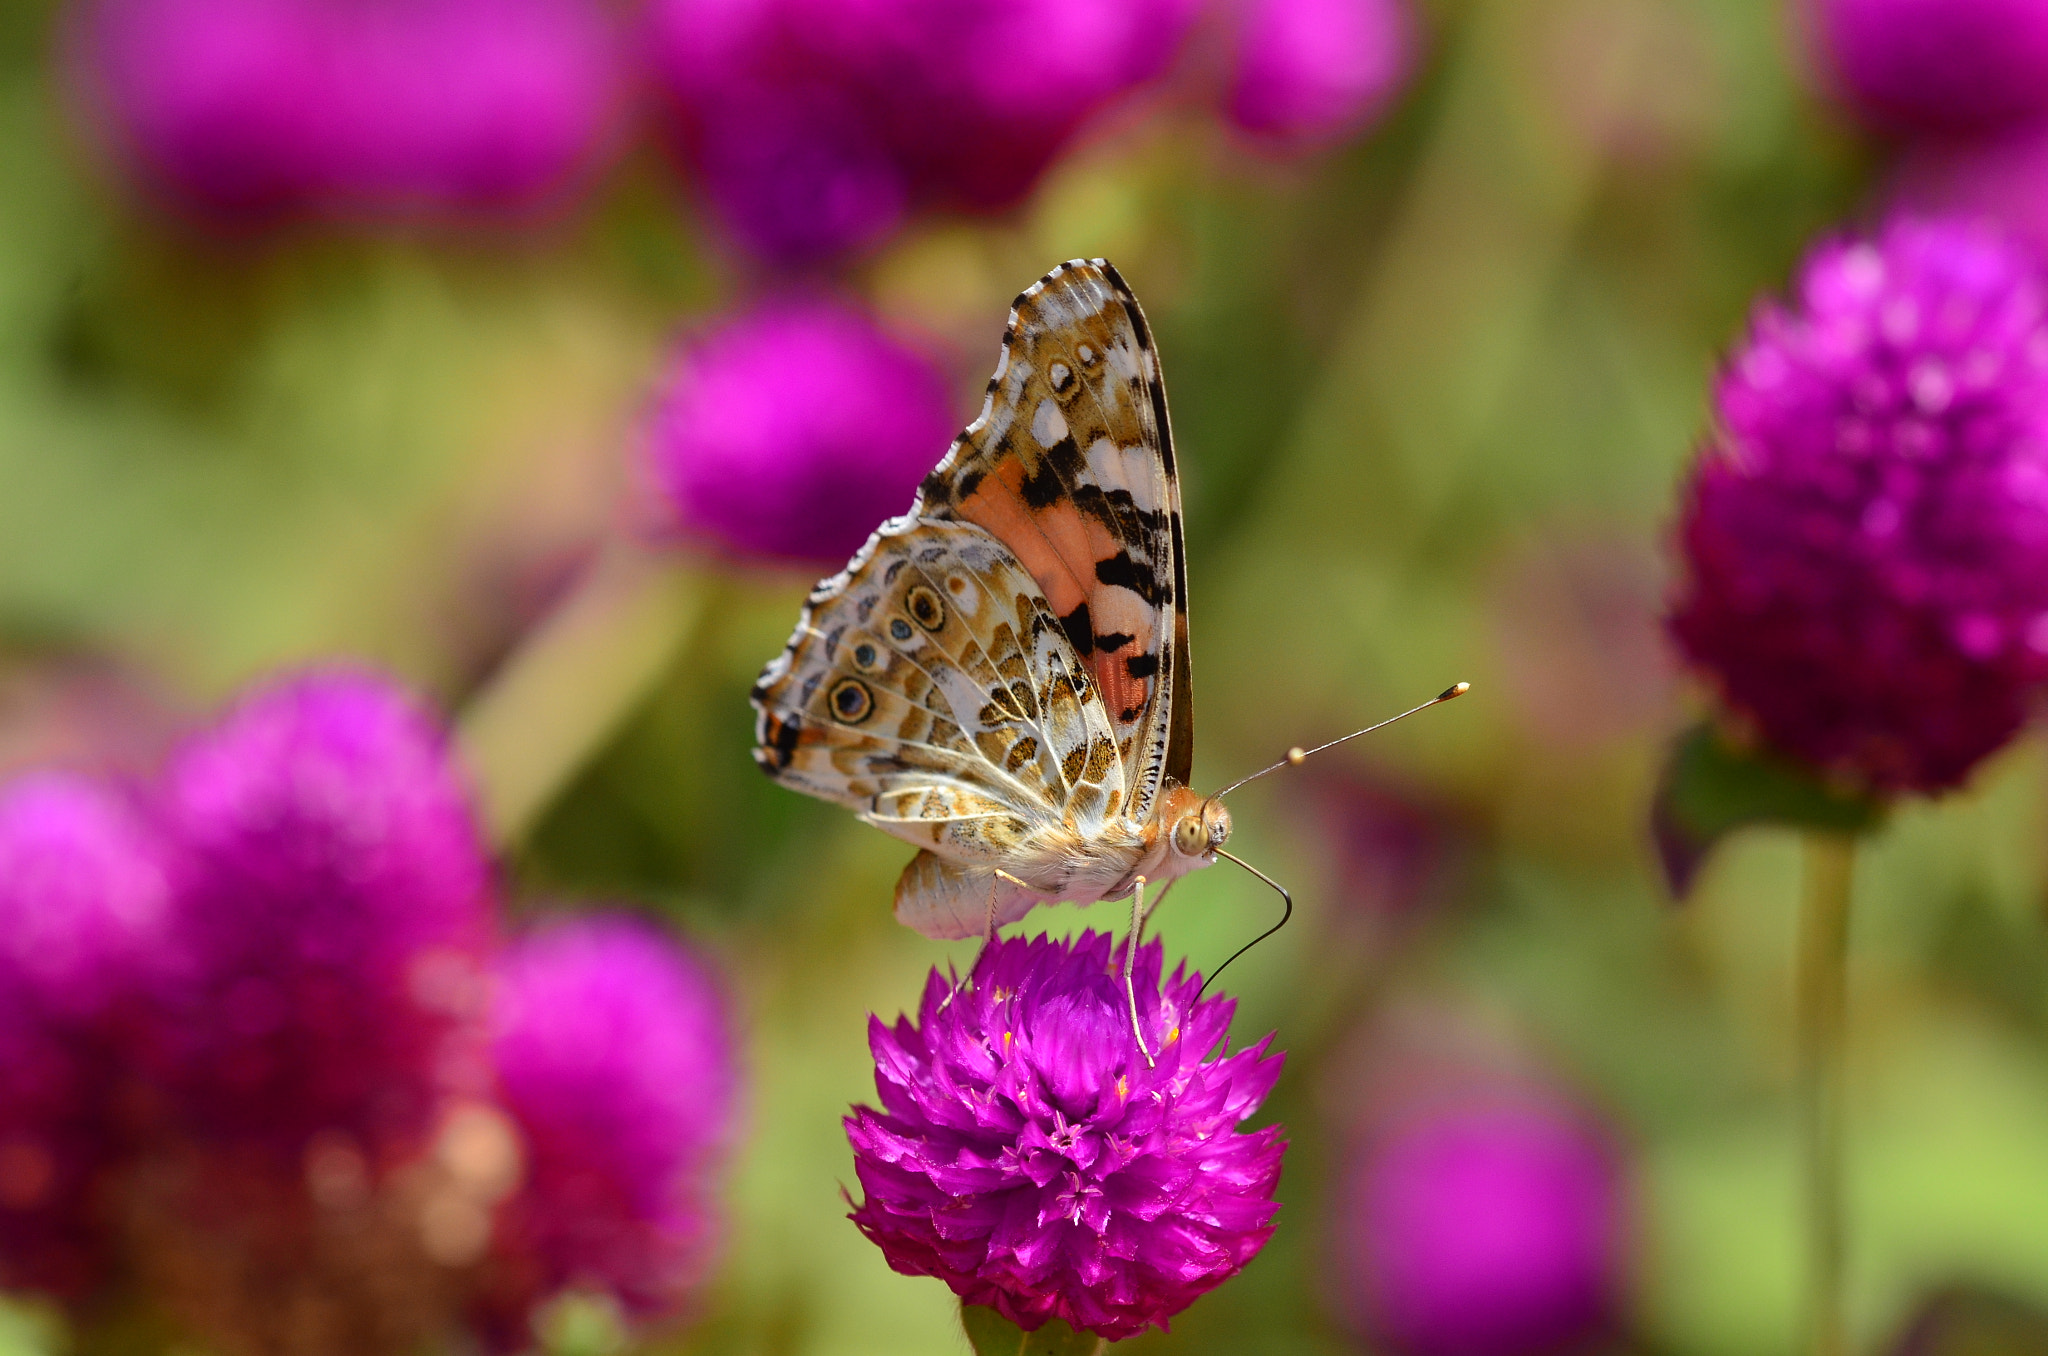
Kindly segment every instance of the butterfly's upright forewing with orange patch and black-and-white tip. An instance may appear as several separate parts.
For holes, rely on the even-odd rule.
[[[913,516],[973,522],[1030,571],[1102,694],[1143,819],[1194,760],[1180,481],[1151,330],[1104,260],[1026,289],[979,418]]]

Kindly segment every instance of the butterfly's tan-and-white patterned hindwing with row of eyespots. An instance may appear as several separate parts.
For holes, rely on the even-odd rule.
[[[754,703],[772,776],[950,862],[1096,832],[1126,799],[1087,666],[1030,574],[965,522],[885,522],[811,592]]]

